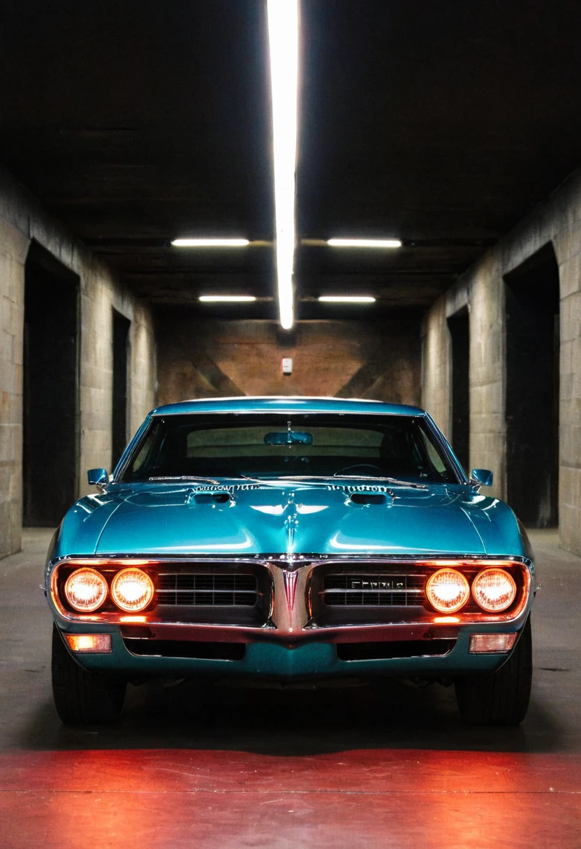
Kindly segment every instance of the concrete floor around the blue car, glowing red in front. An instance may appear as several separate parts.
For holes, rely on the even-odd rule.
[[[543,588],[520,728],[454,692],[130,688],[116,728],[64,728],[50,692],[50,531],[0,561],[0,846],[581,846],[581,559],[533,531]]]

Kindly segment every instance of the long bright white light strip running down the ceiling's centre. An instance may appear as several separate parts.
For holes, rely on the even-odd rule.
[[[273,100],[276,276],[280,324],[294,322],[296,108],[298,88],[298,2],[268,0],[270,85]]]

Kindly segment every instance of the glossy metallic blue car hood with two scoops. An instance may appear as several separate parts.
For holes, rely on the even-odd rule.
[[[510,509],[465,485],[121,485],[71,513],[69,554],[522,554]]]

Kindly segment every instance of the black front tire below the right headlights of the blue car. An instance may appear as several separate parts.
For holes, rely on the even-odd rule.
[[[508,661],[488,675],[456,678],[460,716],[471,725],[518,725],[527,713],[533,680],[531,619]]]

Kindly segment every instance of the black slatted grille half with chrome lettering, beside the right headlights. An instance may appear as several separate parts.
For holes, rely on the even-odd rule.
[[[325,575],[322,600],[327,606],[409,607],[426,600],[423,574]]]

